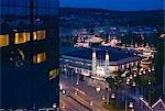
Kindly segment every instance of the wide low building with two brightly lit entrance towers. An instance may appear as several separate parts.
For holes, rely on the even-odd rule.
[[[114,76],[117,70],[138,66],[142,57],[129,51],[101,46],[98,48],[80,48],[62,55],[62,67],[74,69],[75,73],[88,77],[105,79]]]

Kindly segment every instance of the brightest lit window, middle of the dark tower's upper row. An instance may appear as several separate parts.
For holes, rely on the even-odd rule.
[[[15,44],[26,43],[28,41],[30,41],[30,33],[15,33]]]

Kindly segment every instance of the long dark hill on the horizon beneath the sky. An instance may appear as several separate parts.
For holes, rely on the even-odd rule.
[[[61,8],[59,16],[68,25],[164,25],[164,10],[112,11],[101,9]]]

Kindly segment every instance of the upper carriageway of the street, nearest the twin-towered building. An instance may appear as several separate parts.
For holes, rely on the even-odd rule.
[[[97,92],[95,88],[87,86],[82,81],[79,81],[79,85],[76,85],[75,80],[69,80],[67,78],[61,78],[61,82],[67,90],[67,96],[70,96],[82,106],[86,106],[88,110],[107,111],[102,107],[102,96],[106,95],[105,91]],[[88,110],[86,109],[84,111]]]

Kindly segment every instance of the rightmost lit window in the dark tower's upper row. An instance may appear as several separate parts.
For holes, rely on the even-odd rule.
[[[42,31],[36,31],[36,32],[33,32],[33,40],[44,40],[46,38],[46,31],[45,30],[42,30]]]

